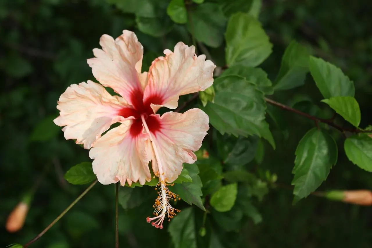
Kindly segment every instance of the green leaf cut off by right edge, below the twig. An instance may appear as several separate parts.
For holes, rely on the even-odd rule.
[[[366,134],[350,136],[345,140],[347,158],[360,168],[372,172],[372,138]]]

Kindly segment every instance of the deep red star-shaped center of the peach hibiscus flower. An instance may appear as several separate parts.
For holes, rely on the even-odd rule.
[[[138,136],[143,129],[141,115],[144,116],[146,124],[151,133],[160,130],[160,123],[157,118],[153,115],[154,111],[151,108],[151,104],[162,104],[163,98],[159,95],[150,95],[147,99],[143,99],[143,92],[141,89],[136,89],[131,93],[132,107],[122,108],[118,115],[124,118],[134,117],[133,123],[129,129],[129,133],[132,137]]]

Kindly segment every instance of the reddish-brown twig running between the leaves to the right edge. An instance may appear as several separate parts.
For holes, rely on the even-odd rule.
[[[336,123],[333,122],[333,119],[334,118],[331,118],[331,119],[323,119],[323,118],[318,118],[318,117],[315,117],[315,116],[312,116],[312,115],[309,115],[309,114],[306,114],[302,111],[299,111],[297,109],[294,109],[294,108],[291,108],[289,106],[286,106],[284,104],[281,104],[279,102],[275,102],[269,98],[265,98],[265,101],[271,105],[274,105],[274,106],[277,106],[281,109],[284,109],[284,110],[287,110],[287,111],[290,111],[290,112],[293,112],[295,114],[298,114],[298,115],[302,115],[303,117],[306,117],[308,119],[311,119],[313,120],[315,123],[317,122],[322,122],[322,123],[325,123],[325,124],[328,124],[330,125],[331,127],[334,127],[336,128],[337,130],[341,131],[341,133],[344,133],[345,131],[348,131],[350,133],[371,133],[371,131],[363,131],[363,130],[360,130],[360,129],[357,129],[357,128],[346,128],[346,127],[342,127],[340,125],[337,125]]]

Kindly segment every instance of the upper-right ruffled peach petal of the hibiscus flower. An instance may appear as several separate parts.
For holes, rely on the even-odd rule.
[[[162,99],[161,104],[154,103],[156,112],[161,106],[175,109],[181,95],[205,90],[213,83],[212,61],[205,61],[205,55],[196,56],[195,47],[178,42],[174,53],[164,50],[166,57],[158,57],[151,64],[148,74],[148,86],[144,100],[154,96]]]

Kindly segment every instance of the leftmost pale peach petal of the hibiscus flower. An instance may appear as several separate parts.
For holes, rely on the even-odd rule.
[[[66,139],[76,139],[84,148],[92,147],[110,125],[124,120],[118,115],[120,109],[129,106],[123,98],[110,95],[99,83],[71,85],[60,96],[57,109],[60,116],[54,123],[63,127]]]

